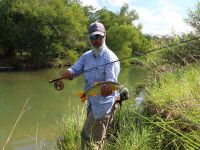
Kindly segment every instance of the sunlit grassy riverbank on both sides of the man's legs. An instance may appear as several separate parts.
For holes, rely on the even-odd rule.
[[[150,80],[140,108],[135,108],[129,100],[117,111],[115,123],[119,130],[111,131],[112,142],[106,141],[104,149],[199,149],[199,76],[197,64],[160,73],[155,80]],[[60,149],[63,145],[80,148],[82,118],[73,115],[64,119],[65,125],[72,128],[67,127],[61,134]]]

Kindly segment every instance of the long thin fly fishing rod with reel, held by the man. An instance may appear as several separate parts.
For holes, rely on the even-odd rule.
[[[164,49],[164,48],[169,48],[169,47],[174,47],[174,46],[179,46],[180,44],[183,44],[183,43],[188,43],[188,42],[191,42],[191,41],[195,41],[195,40],[199,40],[200,37],[196,37],[196,38],[193,38],[193,39],[188,39],[188,40],[185,40],[185,41],[182,41],[182,42],[179,42],[178,44],[170,44],[170,45],[166,45],[166,46],[163,46],[163,47],[160,47],[160,48],[156,48],[156,49],[152,49],[152,50],[149,50],[149,51],[146,51],[146,52],[135,52],[134,54],[136,56],[128,56],[128,57],[124,57],[124,58],[121,58],[121,59],[118,59],[118,60],[115,60],[115,61],[111,61],[109,63],[105,63],[105,64],[102,64],[102,65],[99,65],[99,66],[96,66],[96,67],[92,67],[92,68],[89,68],[89,69],[86,69],[82,72],[80,72],[79,74],[82,74],[84,72],[87,72],[87,71],[90,71],[90,70],[93,70],[93,69],[96,69],[96,68],[99,68],[99,67],[102,67],[102,66],[105,66],[105,65],[109,65],[109,64],[112,64],[112,63],[115,63],[115,62],[118,62],[118,61],[123,61],[123,60],[126,60],[126,59],[130,59],[130,58],[133,58],[133,57],[140,57],[140,56],[144,56],[144,55],[147,55],[149,53],[152,53],[152,52],[155,52],[155,51],[158,51],[158,50],[161,50],[161,49]],[[69,66],[69,65],[68,65]],[[63,86],[64,88],[64,84],[61,83],[61,82],[58,82],[62,79],[65,79],[64,77],[60,77],[60,78],[57,78],[57,79],[53,79],[53,80],[49,80],[49,83],[55,83],[54,86],[56,87],[56,84],[60,84],[61,87]],[[62,85],[63,84],[63,85]]]

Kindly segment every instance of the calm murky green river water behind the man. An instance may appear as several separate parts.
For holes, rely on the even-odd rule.
[[[65,80],[62,91],[48,83],[62,72],[63,69],[0,72],[0,149],[12,129],[5,150],[56,149],[56,130],[64,113],[83,107],[78,97],[84,86],[82,76]],[[130,100],[134,99],[136,85],[144,79],[145,71],[134,67],[122,68],[119,75],[119,82],[130,91]],[[15,126],[27,99],[25,112]]]

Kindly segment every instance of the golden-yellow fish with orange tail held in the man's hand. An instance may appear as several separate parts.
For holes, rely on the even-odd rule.
[[[114,81],[94,82],[94,85],[92,87],[90,87],[89,89],[85,90],[83,93],[79,94],[82,103],[84,103],[87,100],[88,96],[101,95],[101,85],[102,84],[109,85],[111,87],[111,89],[112,89],[112,93],[114,91],[119,90],[122,87],[122,85],[119,82],[114,82]]]

